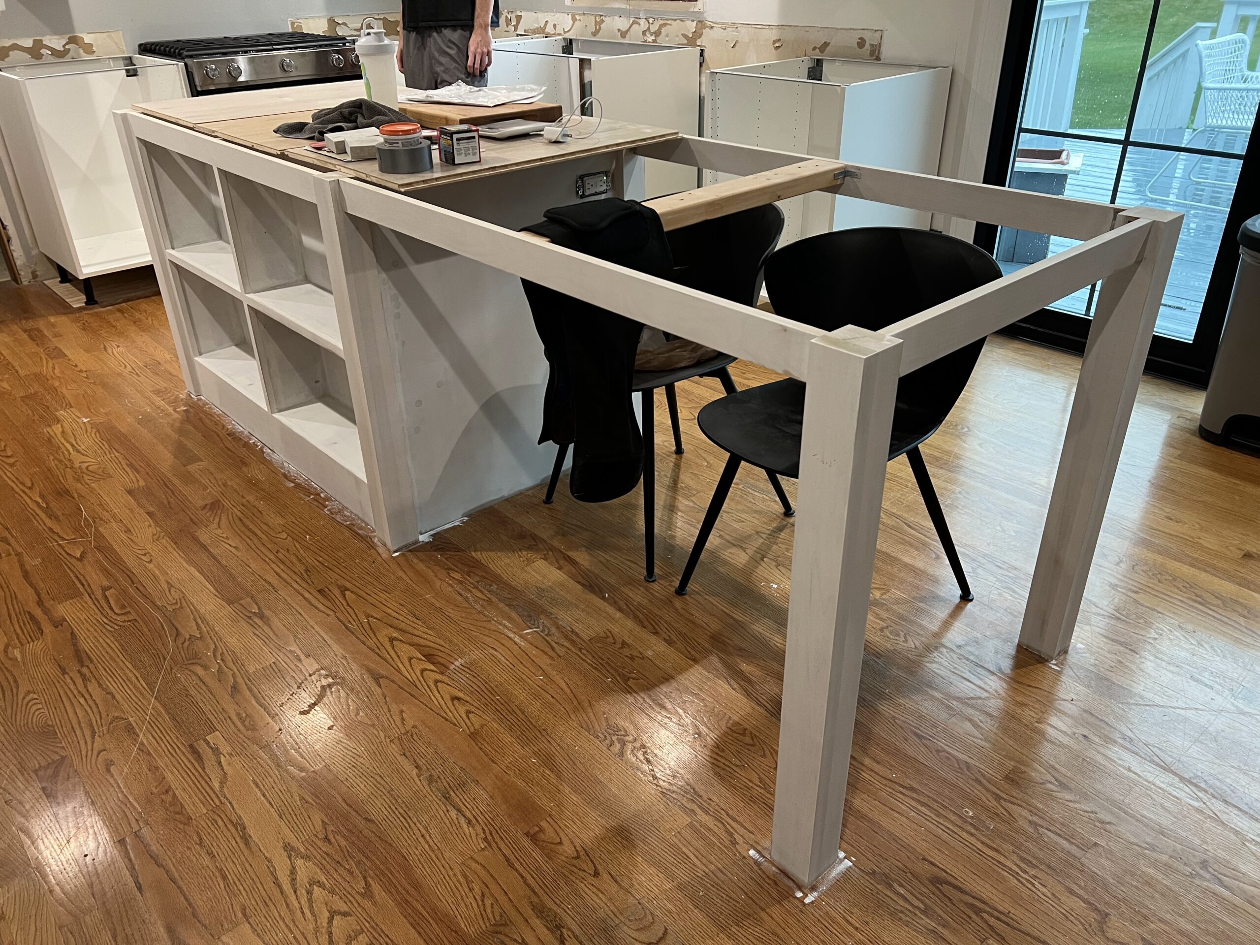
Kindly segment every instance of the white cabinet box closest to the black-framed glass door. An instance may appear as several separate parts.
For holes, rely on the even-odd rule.
[[[950,68],[803,57],[713,69],[706,137],[936,174]],[[719,178],[706,173],[706,183]],[[850,227],[927,227],[931,214],[814,193],[780,203],[782,242]]]

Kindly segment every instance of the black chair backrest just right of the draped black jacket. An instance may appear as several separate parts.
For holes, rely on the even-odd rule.
[[[761,297],[762,272],[784,232],[772,203],[670,231],[675,282],[741,305]]]

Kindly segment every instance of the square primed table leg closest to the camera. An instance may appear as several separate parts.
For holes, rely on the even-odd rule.
[[[801,886],[835,862],[901,343],[810,345],[771,857]]]

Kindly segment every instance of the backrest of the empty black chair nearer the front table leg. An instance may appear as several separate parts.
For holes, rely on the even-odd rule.
[[[834,331],[872,331],[1002,277],[993,257],[929,229],[861,227],[799,239],[766,261],[775,314]],[[926,364],[897,384],[895,430],[932,432],[963,393],[984,339]]]

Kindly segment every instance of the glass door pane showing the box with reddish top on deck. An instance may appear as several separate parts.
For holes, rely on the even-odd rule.
[[[1119,145],[1021,135],[1009,185],[1017,190],[1108,203],[1119,164]],[[1002,271],[1011,273],[1077,243],[1076,239],[1002,227],[994,256]],[[1089,296],[1089,290],[1082,289],[1051,307],[1072,315],[1087,315]]]

